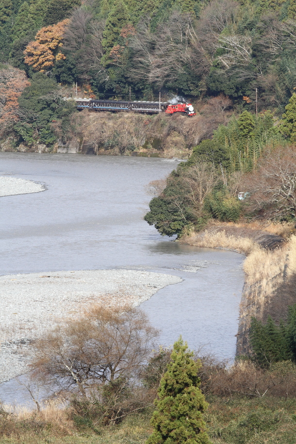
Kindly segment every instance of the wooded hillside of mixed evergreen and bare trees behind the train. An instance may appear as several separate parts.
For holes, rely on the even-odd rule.
[[[19,94],[19,70],[38,82],[34,96],[48,110],[36,124],[20,99],[18,126],[5,117],[1,137],[13,130],[15,145],[53,145],[52,120],[68,131],[68,105],[57,98],[74,96],[76,82],[83,97],[219,97],[236,114],[255,112],[257,88],[258,111],[280,116],[296,87],[295,55],[295,0],[0,0],[1,71],[15,73]],[[2,92],[0,103],[6,110]]]

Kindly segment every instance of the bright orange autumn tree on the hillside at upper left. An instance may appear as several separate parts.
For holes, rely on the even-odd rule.
[[[44,72],[54,65],[55,61],[65,59],[61,52],[65,28],[69,20],[63,20],[56,25],[41,28],[24,50],[25,63],[33,66],[35,71]]]

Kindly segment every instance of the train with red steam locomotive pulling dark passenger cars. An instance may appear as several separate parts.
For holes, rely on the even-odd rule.
[[[191,103],[178,103],[171,105],[168,102],[147,102],[147,101],[125,101],[125,100],[94,100],[75,99],[78,110],[88,109],[90,111],[114,111],[114,112],[134,112],[145,114],[157,113],[182,113],[188,116],[196,115]]]

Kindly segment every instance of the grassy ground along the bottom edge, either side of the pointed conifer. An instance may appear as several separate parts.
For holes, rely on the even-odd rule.
[[[208,402],[205,419],[213,443],[296,442],[296,399],[210,396]],[[1,415],[0,444],[144,444],[151,433],[150,416],[147,410],[129,416],[119,426],[96,428],[69,419],[69,410],[48,404],[39,413],[20,411],[4,420]]]

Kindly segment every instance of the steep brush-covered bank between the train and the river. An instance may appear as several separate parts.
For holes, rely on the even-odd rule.
[[[192,147],[210,138],[230,112],[200,104],[196,116],[89,111],[75,112],[66,127],[53,122],[57,142],[46,146],[36,140],[27,145],[11,135],[0,140],[0,151],[103,154],[186,159]]]

